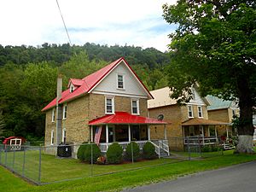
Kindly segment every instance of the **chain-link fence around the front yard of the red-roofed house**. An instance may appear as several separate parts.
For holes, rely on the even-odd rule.
[[[166,143],[160,141],[152,141],[150,144],[127,142],[19,147],[0,145],[0,165],[34,183],[42,184],[223,154],[217,143],[202,145],[201,138],[177,137],[168,143],[170,153],[167,153]]]

